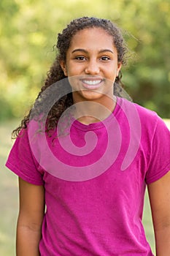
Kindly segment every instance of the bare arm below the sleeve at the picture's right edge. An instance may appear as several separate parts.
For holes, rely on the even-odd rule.
[[[170,255],[170,171],[148,185],[157,256]]]

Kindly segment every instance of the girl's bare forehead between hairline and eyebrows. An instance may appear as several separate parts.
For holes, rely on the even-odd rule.
[[[77,31],[72,37],[69,48],[115,48],[113,37],[101,28],[88,28]]]

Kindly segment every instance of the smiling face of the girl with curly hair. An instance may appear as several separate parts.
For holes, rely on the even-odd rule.
[[[61,61],[64,75],[69,77],[74,102],[107,100],[113,94],[113,82],[121,64],[117,63],[117,49],[112,36],[101,28],[78,31],[66,53],[66,63]],[[79,76],[76,78],[71,78]],[[108,98],[108,97],[107,97]]]

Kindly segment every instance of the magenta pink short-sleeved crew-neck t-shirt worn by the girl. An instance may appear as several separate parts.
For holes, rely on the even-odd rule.
[[[146,184],[170,170],[161,118],[117,97],[104,121],[76,120],[69,133],[55,135],[45,143],[23,131],[7,160],[25,181],[45,186],[41,255],[152,255],[142,211]]]

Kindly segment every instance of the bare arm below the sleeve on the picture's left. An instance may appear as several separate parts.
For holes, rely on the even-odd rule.
[[[44,187],[19,178],[20,211],[17,225],[17,256],[38,256],[45,213]]]

